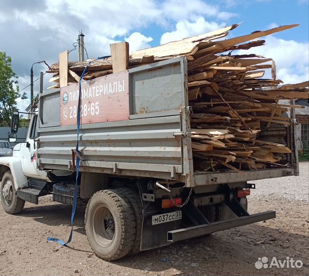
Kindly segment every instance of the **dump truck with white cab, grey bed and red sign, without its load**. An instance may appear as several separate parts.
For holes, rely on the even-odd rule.
[[[253,180],[299,174],[293,112],[278,125],[289,165],[240,171],[194,169],[191,113],[183,56],[42,93],[26,142],[0,158],[4,210],[17,214],[48,194],[73,204],[76,192],[89,244],[108,261],[275,218],[249,214],[247,196]]]

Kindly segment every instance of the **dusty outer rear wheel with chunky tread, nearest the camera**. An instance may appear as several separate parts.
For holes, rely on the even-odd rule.
[[[135,220],[130,202],[122,193],[94,193],[85,212],[85,229],[94,253],[105,261],[126,256],[135,237]]]

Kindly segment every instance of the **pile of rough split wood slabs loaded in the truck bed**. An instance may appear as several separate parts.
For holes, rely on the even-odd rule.
[[[176,56],[188,60],[188,104],[192,106],[191,135],[195,171],[240,171],[289,166],[287,131],[292,104],[280,100],[308,99],[308,84],[280,85],[271,58],[233,54],[263,45],[256,40],[298,25],[220,40],[239,25],[130,53],[132,68]],[[255,39],[255,40],[253,40]],[[68,62],[67,84],[78,82],[88,64]],[[265,69],[271,78],[264,78]],[[59,63],[51,66],[50,81],[59,87]],[[113,73],[112,58],[93,61],[84,77]],[[61,75],[61,74],[60,74]]]

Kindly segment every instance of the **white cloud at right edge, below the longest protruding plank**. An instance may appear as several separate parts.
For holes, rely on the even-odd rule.
[[[273,58],[276,62],[277,79],[282,80],[284,83],[297,83],[309,79],[308,42],[297,42],[268,36],[265,45],[252,48],[250,51],[241,50],[238,53],[254,53]],[[269,71],[265,77],[270,77]]]

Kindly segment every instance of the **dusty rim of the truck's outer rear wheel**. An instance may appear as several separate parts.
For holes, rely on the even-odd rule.
[[[115,236],[115,223],[110,210],[105,204],[100,204],[93,210],[91,216],[92,236],[103,247],[109,246]]]

